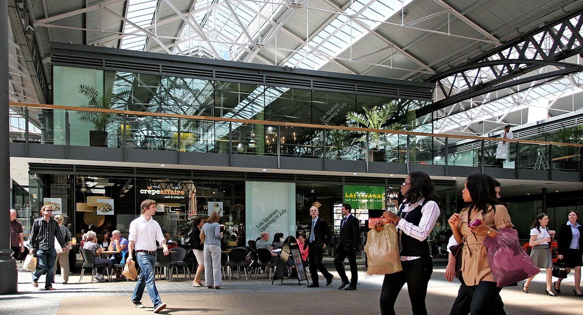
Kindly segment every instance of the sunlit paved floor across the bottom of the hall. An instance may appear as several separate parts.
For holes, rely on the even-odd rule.
[[[447,282],[444,270],[436,267],[429,283],[427,309],[430,314],[448,314],[458,289],[458,282]],[[334,273],[335,274],[335,273]],[[336,274],[335,274],[336,275]],[[78,275],[71,275],[69,284],[57,282],[56,291],[34,288],[30,273],[19,273],[19,294],[0,296],[0,314],[149,314],[152,302],[147,292],[142,302],[145,309],[135,309],[129,302],[135,282],[89,282],[84,277],[79,283]],[[502,291],[508,314],[582,314],[583,298],[573,296],[573,274],[564,281],[563,294],[557,298],[545,295],[544,272],[531,284],[530,294],[522,293],[521,287],[505,288]],[[57,276],[57,281],[61,277]],[[43,287],[44,277],[39,282]],[[214,313],[214,314],[298,314],[298,313],[380,313],[378,297],[382,276],[359,273],[357,291],[338,291],[339,279],[329,287],[308,289],[297,285],[297,281],[285,280],[271,284],[262,275],[257,280],[233,279],[223,283],[223,289],[194,288],[191,281],[156,281],[163,302],[168,304],[166,314]],[[570,294],[567,294],[571,292]],[[110,309],[111,312],[107,310]],[[406,288],[396,303],[397,314],[410,314]]]

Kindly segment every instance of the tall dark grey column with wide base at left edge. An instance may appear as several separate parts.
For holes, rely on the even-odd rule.
[[[8,0],[0,0],[0,195],[10,195],[8,134]],[[16,260],[10,249],[10,198],[0,198],[0,295],[18,291]]]

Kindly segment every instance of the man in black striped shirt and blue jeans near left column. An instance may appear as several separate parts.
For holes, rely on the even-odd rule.
[[[43,206],[40,209],[42,217],[34,220],[30,228],[30,253],[37,256],[37,269],[33,272],[33,285],[38,287],[38,278],[46,271],[47,278],[44,288],[54,290],[52,281],[55,274],[55,259],[57,250],[55,250],[55,237],[59,246],[65,250],[65,240],[59,230],[59,224],[52,219],[52,206]]]

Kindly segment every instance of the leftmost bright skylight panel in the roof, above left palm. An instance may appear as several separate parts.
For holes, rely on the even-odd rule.
[[[128,12],[126,13],[126,19],[135,23],[139,27],[146,27],[152,24],[154,18],[154,12],[156,10],[158,0],[128,0]],[[129,24],[124,23],[124,33],[131,33],[137,31],[138,28]],[[121,40],[121,49],[129,49],[133,51],[143,51],[146,44],[146,34],[143,31],[139,31],[136,35],[125,36]]]

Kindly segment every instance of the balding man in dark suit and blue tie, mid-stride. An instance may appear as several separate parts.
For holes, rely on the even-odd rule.
[[[332,238],[332,230],[328,226],[326,221],[318,217],[318,207],[312,206],[310,208],[310,216],[312,221],[310,222],[310,241],[308,246],[308,257],[310,259],[310,274],[312,275],[312,284],[308,285],[308,288],[317,288],[318,284],[318,271],[324,275],[326,278],[326,285],[332,283],[334,276],[326,270],[326,267],[322,264],[322,254],[324,249],[330,243]]]

